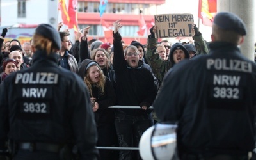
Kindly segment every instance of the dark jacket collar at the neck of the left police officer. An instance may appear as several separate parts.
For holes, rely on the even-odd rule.
[[[51,53],[47,55],[46,51],[36,51],[33,54],[33,63],[41,61],[41,60],[48,60],[48,61],[53,61],[54,63],[58,64],[58,60],[60,60],[60,55],[56,53]]]

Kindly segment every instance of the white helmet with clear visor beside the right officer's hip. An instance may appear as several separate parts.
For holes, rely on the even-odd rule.
[[[175,153],[176,129],[173,124],[156,124],[145,131],[139,143],[140,156],[145,160],[170,160]]]

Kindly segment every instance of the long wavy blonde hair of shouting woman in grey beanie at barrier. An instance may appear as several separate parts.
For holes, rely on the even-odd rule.
[[[89,70],[92,66],[97,66],[100,70],[100,74],[99,74],[99,82],[97,83],[93,83],[93,81],[90,79],[89,76]],[[95,86],[97,86],[97,88],[100,88],[100,94],[104,95],[104,87],[105,87],[105,81],[106,81],[106,77],[104,76],[102,70],[100,69],[99,65],[92,65],[90,66],[87,70],[86,70],[86,75],[84,76],[84,83],[86,84],[88,90],[90,91],[90,95],[92,96],[92,85],[95,84]]]

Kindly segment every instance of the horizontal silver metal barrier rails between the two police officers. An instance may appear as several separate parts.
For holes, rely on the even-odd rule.
[[[108,108],[121,108],[121,109],[141,109],[140,106],[110,106]],[[150,106],[148,109],[153,109],[153,106]],[[138,147],[96,147],[98,149],[105,150],[139,150]]]

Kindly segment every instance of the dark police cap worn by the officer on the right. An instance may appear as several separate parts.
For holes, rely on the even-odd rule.
[[[236,31],[240,35],[246,35],[246,26],[242,19],[230,12],[219,12],[215,15],[213,23],[219,28]]]

